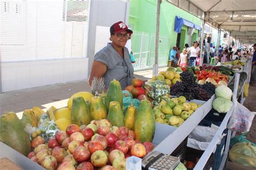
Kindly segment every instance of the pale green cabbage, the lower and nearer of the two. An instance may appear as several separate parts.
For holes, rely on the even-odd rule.
[[[227,100],[226,98],[215,98],[212,102],[213,109],[217,110],[219,113],[226,113],[232,107],[233,102],[231,100]]]

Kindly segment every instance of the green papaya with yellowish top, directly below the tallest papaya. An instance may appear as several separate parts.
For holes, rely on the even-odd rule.
[[[125,126],[123,110],[120,107],[119,102],[112,101],[109,104],[109,113],[107,114],[107,119],[109,119],[112,126]]]

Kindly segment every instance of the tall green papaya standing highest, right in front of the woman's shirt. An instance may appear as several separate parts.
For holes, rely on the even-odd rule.
[[[109,84],[109,89],[107,89],[107,95],[105,98],[105,105],[107,110],[109,110],[110,102],[117,101],[120,104],[120,107],[123,108],[123,93],[120,86],[120,82],[115,79],[112,80]]]

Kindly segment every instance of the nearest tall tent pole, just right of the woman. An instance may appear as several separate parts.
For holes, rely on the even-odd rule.
[[[157,0],[156,46],[155,46],[155,49],[154,49],[153,75],[156,75],[158,73],[158,46],[159,46],[160,4],[161,4],[161,0]]]

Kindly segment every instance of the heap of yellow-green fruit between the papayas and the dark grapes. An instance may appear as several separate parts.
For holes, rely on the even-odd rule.
[[[193,102],[186,102],[184,96],[171,98],[167,101],[162,100],[158,107],[155,107],[154,115],[156,122],[169,124],[172,126],[180,126],[193,112],[200,107]]]

